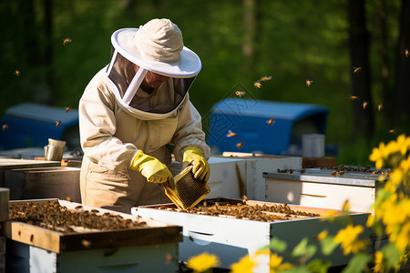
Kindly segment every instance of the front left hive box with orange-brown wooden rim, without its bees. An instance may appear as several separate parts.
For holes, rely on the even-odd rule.
[[[53,199],[11,201],[44,204]],[[101,230],[73,227],[60,232],[18,221],[4,225],[7,272],[175,272],[181,227],[149,218],[56,200],[69,211],[106,213],[137,221],[138,227]],[[86,219],[83,219],[84,221]]]

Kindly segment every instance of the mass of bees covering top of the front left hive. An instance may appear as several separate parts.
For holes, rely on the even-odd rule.
[[[133,221],[107,212],[101,215],[97,209],[88,211],[82,206],[77,206],[76,210],[69,210],[56,200],[46,203],[10,203],[9,219],[64,233],[76,232],[73,227],[115,230],[147,225],[144,221]],[[83,245],[89,247],[88,243],[83,242]]]

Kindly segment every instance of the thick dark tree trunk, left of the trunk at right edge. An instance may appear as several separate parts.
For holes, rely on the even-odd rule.
[[[354,106],[354,138],[370,137],[374,133],[374,114],[370,88],[369,33],[365,25],[364,0],[349,0],[349,48],[352,67],[362,67],[352,72],[352,95],[361,99]],[[364,103],[368,105],[364,108]]]

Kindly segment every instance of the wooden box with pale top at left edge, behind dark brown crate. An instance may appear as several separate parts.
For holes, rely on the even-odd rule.
[[[0,158],[0,187],[5,187],[5,170],[11,168],[59,167],[59,161]]]

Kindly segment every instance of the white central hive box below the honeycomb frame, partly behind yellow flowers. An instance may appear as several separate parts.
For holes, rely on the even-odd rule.
[[[240,199],[216,198],[206,199],[205,202],[238,204]],[[247,201],[251,206],[278,206],[284,204]],[[328,209],[289,206],[293,210],[306,213],[316,213],[319,217],[293,217],[271,222],[258,220],[239,219],[235,217],[217,217],[209,215],[191,214],[183,211],[173,211],[173,204],[133,207],[131,213],[140,217],[152,217],[170,225],[183,227],[183,242],[179,243],[179,259],[188,260],[190,257],[208,251],[217,255],[221,261],[221,268],[230,268],[232,263],[238,262],[246,254],[253,255],[257,250],[268,246],[272,238],[280,238],[287,242],[288,249],[295,247],[302,238],[309,238],[312,244],[318,244],[317,235],[324,229],[332,234],[340,228],[338,224],[323,221]],[[369,214],[352,213],[354,225],[363,225]],[[370,230],[365,229],[362,238],[369,238]],[[315,258],[322,258],[320,255]],[[333,266],[346,265],[349,257],[343,256],[340,250],[326,257],[332,261]],[[257,272],[269,272],[269,257],[261,260]]]

